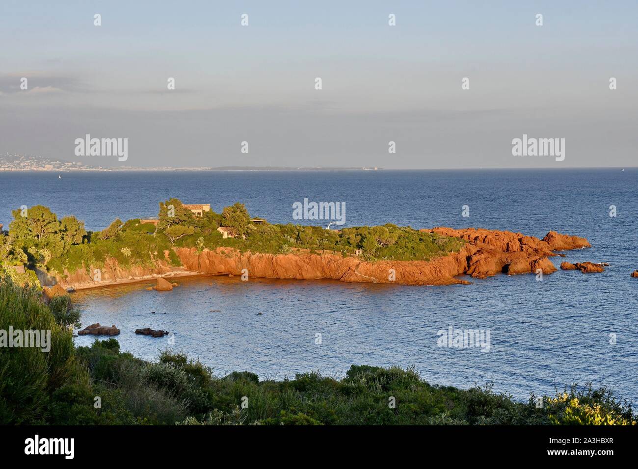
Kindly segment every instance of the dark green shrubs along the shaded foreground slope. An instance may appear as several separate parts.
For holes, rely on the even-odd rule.
[[[0,330],[52,331],[49,353],[0,347],[0,424],[635,424],[632,408],[607,389],[574,386],[537,408],[535,396],[523,403],[490,386],[440,387],[413,369],[352,366],[341,380],[302,373],[260,381],[248,371],[214,376],[171,351],[142,361],[114,338],[75,348],[73,317],[60,314],[68,306],[46,306],[35,288],[0,281]]]

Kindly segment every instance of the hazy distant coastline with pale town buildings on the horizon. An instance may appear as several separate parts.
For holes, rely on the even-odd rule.
[[[44,156],[19,153],[0,154],[0,171],[346,171],[380,170],[379,167],[276,167],[276,166],[219,166],[219,167],[132,167],[105,168],[85,165],[80,161],[53,160]]]

